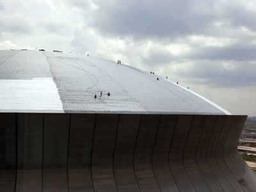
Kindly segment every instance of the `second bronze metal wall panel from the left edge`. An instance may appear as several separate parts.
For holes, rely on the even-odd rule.
[[[43,126],[43,114],[17,114],[16,191],[42,191]]]

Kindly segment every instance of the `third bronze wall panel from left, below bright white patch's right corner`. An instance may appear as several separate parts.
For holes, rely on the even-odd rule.
[[[43,191],[68,191],[70,114],[44,115]]]

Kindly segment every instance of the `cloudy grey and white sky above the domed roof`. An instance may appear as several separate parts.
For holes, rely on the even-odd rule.
[[[256,115],[256,1],[0,0],[0,49],[59,49],[154,71]]]

